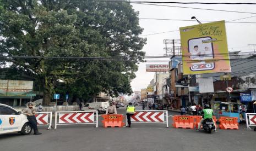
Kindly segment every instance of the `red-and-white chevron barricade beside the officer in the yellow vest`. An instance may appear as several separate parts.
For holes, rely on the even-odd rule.
[[[160,123],[168,126],[168,111],[161,110],[135,110],[135,113],[130,117],[132,123]],[[126,126],[128,123],[126,121]]]

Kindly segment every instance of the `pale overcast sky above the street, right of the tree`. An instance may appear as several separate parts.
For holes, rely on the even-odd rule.
[[[133,1],[133,0],[131,0]],[[148,0],[152,1],[152,0]],[[154,2],[154,1],[152,1]],[[155,0],[155,2],[171,2],[170,0]],[[209,1],[209,0],[190,0],[190,1],[172,1],[172,2],[248,2],[256,3],[256,1]],[[187,8],[173,8],[173,7],[162,7],[154,5],[141,5],[132,4],[135,11],[139,11],[139,18],[157,18],[157,19],[182,19],[190,20],[192,16],[195,16],[198,20],[210,20],[210,21],[231,21],[241,18],[252,18],[238,20],[239,22],[256,22],[256,5],[224,5],[224,4],[162,4],[162,5],[173,5],[181,7],[194,7],[194,8],[206,8],[206,9],[220,9],[220,10],[231,10],[231,11],[244,11],[249,13],[231,13],[224,11],[212,11],[212,10],[199,10],[199,9],[187,9]],[[251,13],[251,14],[250,14]],[[254,14],[253,14],[254,13]],[[206,23],[206,22],[202,22]],[[197,25],[197,21],[165,21],[165,20],[145,20],[140,19],[140,27],[144,28],[144,32],[141,37],[147,38],[147,44],[144,46],[143,51],[146,52],[146,56],[150,55],[164,55],[163,50],[164,39],[180,39],[179,27],[185,27],[190,25]],[[145,34],[168,32],[162,34],[155,34],[151,36],[143,36]],[[237,24],[237,23],[226,23],[227,43],[229,51],[253,51],[252,46],[248,44],[256,44],[256,24]],[[149,59],[146,59],[149,60]],[[156,60],[156,59],[153,59]],[[161,60],[169,60],[164,58]],[[162,62],[160,62],[161,64]],[[150,84],[150,81],[154,78],[154,72],[146,72],[146,64],[142,62],[139,64],[139,69],[136,73],[137,77],[132,80],[133,91],[146,88]]]

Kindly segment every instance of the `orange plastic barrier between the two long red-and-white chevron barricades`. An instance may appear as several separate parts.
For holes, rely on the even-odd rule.
[[[123,127],[123,115],[122,114],[109,114],[102,115],[104,127]]]

